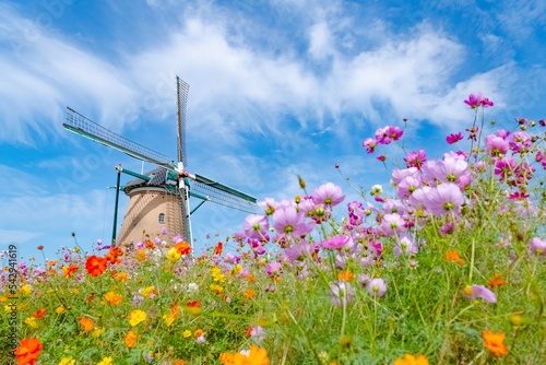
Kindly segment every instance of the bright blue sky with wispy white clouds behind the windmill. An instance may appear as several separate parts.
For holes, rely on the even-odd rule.
[[[361,148],[379,127],[408,118],[407,149],[438,157],[471,93],[500,126],[544,118],[545,23],[543,1],[519,0],[0,1],[0,244],[107,242],[115,166],[154,167],[66,131],[66,106],[175,156],[180,75],[190,172],[259,200],[290,199],[301,175],[348,202],[334,164],[365,189],[389,179]],[[198,247],[245,215],[204,204]]]

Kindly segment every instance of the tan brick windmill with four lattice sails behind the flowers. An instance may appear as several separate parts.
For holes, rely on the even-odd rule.
[[[67,130],[157,166],[145,174],[124,169],[121,165],[116,167],[118,182],[112,245],[116,244],[117,205],[120,190],[128,195],[130,200],[121,224],[118,243],[140,242],[143,239],[143,232],[155,233],[165,227],[170,235],[181,235],[191,244],[190,217],[205,201],[248,213],[253,213],[257,207],[256,198],[185,169],[188,165],[186,153],[186,106],[189,85],[179,76],[176,78],[176,81],[178,106],[176,164],[174,160],[166,155],[132,142],[67,107],[66,121],[63,122]],[[121,173],[133,176],[134,179],[124,187],[120,187]],[[191,211],[190,197],[201,200]]]

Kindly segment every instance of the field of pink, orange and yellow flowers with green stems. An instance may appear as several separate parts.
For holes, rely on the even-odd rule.
[[[363,152],[387,166],[397,144],[390,187],[347,201],[349,184],[299,178],[299,196],[265,198],[201,254],[166,231],[5,252],[0,337],[17,341],[0,362],[546,364],[546,122],[495,129],[491,101],[464,103],[474,121],[441,158],[405,151],[405,121],[385,126]]]

